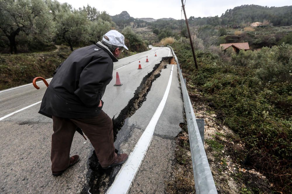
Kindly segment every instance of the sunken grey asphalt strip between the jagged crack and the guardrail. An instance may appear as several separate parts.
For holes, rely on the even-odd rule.
[[[131,118],[126,120],[121,131],[129,131],[128,138],[122,141],[119,152],[131,152],[147,127],[164,95],[171,66],[167,65],[167,68],[161,71],[161,76],[153,82],[146,101]],[[165,182],[171,176],[174,161],[174,138],[180,131],[179,123],[183,122],[183,101],[176,65],[174,65],[173,72],[166,105],[155,127],[149,149],[128,193],[165,193]]]

